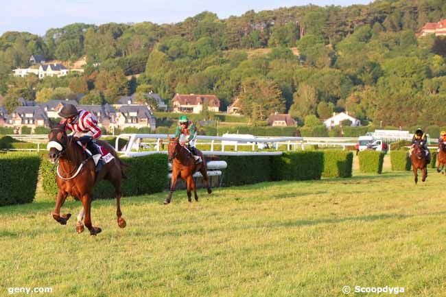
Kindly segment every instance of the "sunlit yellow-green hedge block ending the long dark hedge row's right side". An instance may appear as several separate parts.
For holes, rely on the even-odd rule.
[[[353,152],[342,150],[324,151],[324,171],[325,178],[351,178],[353,167]]]

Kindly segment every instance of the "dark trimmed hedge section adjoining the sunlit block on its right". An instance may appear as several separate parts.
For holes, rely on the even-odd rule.
[[[290,152],[272,156],[272,180],[319,180],[324,168],[324,153]]]

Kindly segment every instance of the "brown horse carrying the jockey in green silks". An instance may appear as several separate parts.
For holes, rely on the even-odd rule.
[[[174,139],[169,137],[168,152],[169,162],[172,162],[172,182],[170,185],[169,195],[167,195],[164,204],[170,203],[170,200],[172,199],[172,193],[174,193],[175,191],[176,180],[178,178],[182,178],[187,182],[187,200],[189,200],[189,202],[192,202],[191,189],[193,189],[195,200],[198,201],[196,186],[195,182],[193,181],[193,174],[196,171],[201,172],[207,188],[207,193],[212,193],[211,187],[209,187],[209,178],[207,176],[207,165],[201,152],[200,157],[202,158],[202,163],[196,165],[196,162],[189,150],[187,150],[187,148],[183,145],[180,145],[180,143],[178,142],[178,137]]]

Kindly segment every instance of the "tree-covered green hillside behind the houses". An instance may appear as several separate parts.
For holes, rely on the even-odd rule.
[[[213,93],[222,110],[239,97],[253,120],[277,111],[302,122],[306,115],[325,119],[333,110],[349,110],[385,125],[445,125],[446,39],[417,34],[425,23],[445,18],[445,1],[397,0],[248,11],[228,19],[202,12],[163,25],[74,23],[45,36],[6,32],[0,36],[0,93],[9,109],[17,97],[45,101],[85,93],[82,103],[113,103],[150,90],[164,99]],[[86,56],[85,72],[12,78],[12,69],[27,67],[31,54],[72,62]]]

